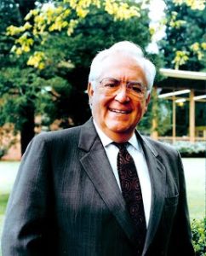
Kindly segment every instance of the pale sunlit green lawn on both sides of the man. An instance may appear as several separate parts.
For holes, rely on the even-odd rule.
[[[3,218],[9,192],[14,183],[19,162],[0,161],[0,236],[3,229]],[[190,217],[203,218],[205,216],[205,160],[183,159],[186,174],[186,189]],[[1,253],[0,253],[1,256]]]

